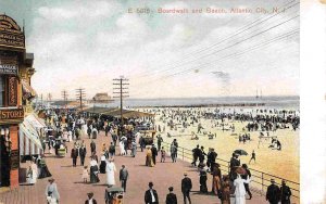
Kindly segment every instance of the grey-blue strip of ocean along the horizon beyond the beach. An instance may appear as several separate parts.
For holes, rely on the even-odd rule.
[[[209,104],[242,104],[264,103],[263,109],[285,109],[298,111],[300,107],[299,97],[221,97],[221,98],[167,98],[167,99],[125,99],[123,106],[186,106],[186,105],[209,105]],[[96,104],[96,106],[120,106],[120,100],[110,104]]]

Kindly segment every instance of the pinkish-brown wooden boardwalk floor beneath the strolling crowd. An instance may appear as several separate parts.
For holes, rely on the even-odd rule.
[[[89,165],[90,156],[90,140],[83,137],[87,148],[86,165]],[[96,140],[98,156],[100,158],[99,150],[102,143],[110,144],[111,137],[104,137],[103,132]],[[104,203],[105,191],[105,175],[100,175],[100,182],[96,184],[83,183],[82,173],[83,167],[79,160],[77,161],[77,167],[72,166],[72,158],[70,158],[70,150],[73,143],[68,143],[68,155],[63,158],[54,157],[51,154],[46,154],[47,164],[52,177],[55,179],[60,193],[61,204],[80,204],[87,199],[88,192],[95,193],[95,199],[98,203]],[[47,151],[48,152],[48,151]],[[118,152],[118,150],[117,150]],[[174,191],[177,194],[179,203],[183,203],[181,194],[181,179],[184,178],[184,171],[188,173],[188,176],[192,180],[191,201],[193,204],[218,204],[221,203],[216,195],[201,194],[199,192],[199,173],[196,168],[187,162],[177,161],[172,163],[167,156],[165,163],[160,163],[160,156],[156,160],[155,167],[145,166],[145,152],[138,150],[136,157],[131,156],[115,156],[115,165],[117,171],[115,174],[116,184],[118,182],[118,170],[121,165],[126,165],[129,171],[129,179],[127,181],[127,192],[124,195],[125,204],[141,204],[143,202],[145,191],[148,189],[148,182],[154,183],[154,189],[158,191],[160,203],[165,203],[165,196],[168,193],[167,188],[173,186]],[[209,176],[208,187],[211,189],[212,178]],[[20,186],[17,190],[7,191],[0,193],[0,204],[45,204],[46,203],[46,186],[48,178],[38,179],[35,186]],[[247,200],[247,203],[267,203],[264,196],[253,193],[252,200]]]

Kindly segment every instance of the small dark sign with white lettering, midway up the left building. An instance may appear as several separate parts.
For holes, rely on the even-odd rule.
[[[0,74],[17,75],[18,74],[17,56],[0,55]]]

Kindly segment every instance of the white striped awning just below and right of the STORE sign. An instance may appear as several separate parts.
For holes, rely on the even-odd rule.
[[[38,132],[24,120],[20,124],[20,153],[21,155],[41,154],[42,145]]]

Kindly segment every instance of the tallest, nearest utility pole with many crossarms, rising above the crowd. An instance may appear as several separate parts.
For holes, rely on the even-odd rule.
[[[127,84],[126,81],[128,81],[129,79],[124,78],[123,76],[121,76],[120,78],[114,78],[113,79],[113,86],[116,86],[113,88],[113,94],[116,94],[113,98],[118,98],[120,99],[120,117],[121,117],[121,130],[122,127],[124,125],[124,117],[123,117],[123,99],[129,97],[128,95],[128,86],[129,84]]]

